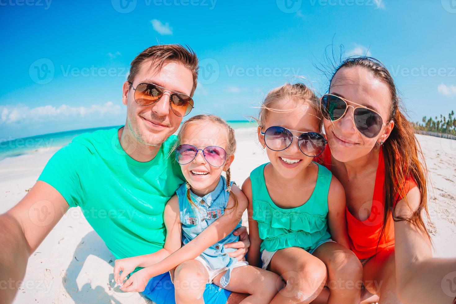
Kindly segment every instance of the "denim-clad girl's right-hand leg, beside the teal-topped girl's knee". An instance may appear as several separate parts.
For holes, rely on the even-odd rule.
[[[220,286],[220,278],[226,272],[214,278],[213,283]],[[236,293],[249,294],[240,303],[269,303],[275,294],[284,287],[280,277],[267,270],[254,266],[240,266],[231,271],[230,281],[225,289]]]

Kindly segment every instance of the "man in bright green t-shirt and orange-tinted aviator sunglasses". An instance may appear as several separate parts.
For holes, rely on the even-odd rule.
[[[163,210],[184,182],[169,157],[172,134],[192,109],[197,72],[196,54],[180,45],[151,46],[131,62],[122,94],[125,126],[74,138],[52,156],[27,195],[0,216],[0,280],[24,277],[27,259],[68,207],[81,207],[116,259],[163,247]],[[108,216],[98,216],[100,211]],[[230,247],[239,248],[233,256],[241,259],[249,240],[245,228],[236,233],[242,242]],[[169,281],[168,273],[151,278],[144,294],[156,303],[174,302]],[[11,302],[15,294],[6,290],[2,300]],[[206,303],[225,303],[228,296],[230,303],[243,298],[218,288],[204,293]]]

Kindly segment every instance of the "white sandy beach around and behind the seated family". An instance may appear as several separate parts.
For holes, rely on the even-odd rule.
[[[267,162],[255,129],[236,130],[238,149],[232,178],[242,185]],[[430,173],[428,223],[435,256],[454,257],[456,238],[456,140],[417,135]],[[35,183],[54,150],[0,161],[0,213],[14,206]],[[72,208],[34,252],[15,303],[150,303],[138,293],[114,288],[114,257]],[[12,282],[15,284],[16,282]],[[20,283],[20,282],[18,282]]]

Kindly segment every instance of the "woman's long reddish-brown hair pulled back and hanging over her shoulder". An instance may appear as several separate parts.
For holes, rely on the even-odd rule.
[[[398,96],[393,77],[391,77],[391,74],[383,63],[372,57],[348,58],[344,60],[339,67],[337,67],[336,72],[342,67],[364,67],[368,69],[375,77],[388,85],[391,94],[391,109],[388,120],[394,121],[394,128],[391,131],[391,134],[389,134],[388,139],[386,139],[383,143],[383,158],[385,162],[385,197],[383,227],[378,241],[380,241],[385,232],[387,220],[390,214],[393,215],[395,222],[407,221],[413,223],[430,239],[421,215],[424,210],[426,216],[429,218],[426,187],[427,168],[420,143],[415,137],[414,128],[403,113],[401,101]],[[336,72],[333,73],[332,77],[334,77]],[[399,197],[404,197],[404,200],[409,206],[406,198],[406,191],[408,191],[408,189],[404,189],[404,186],[406,180],[410,177],[415,180],[418,189],[420,190],[420,204],[411,216],[396,216],[394,213],[394,206],[398,195]]]

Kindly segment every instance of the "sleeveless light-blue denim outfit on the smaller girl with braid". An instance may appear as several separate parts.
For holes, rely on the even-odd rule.
[[[233,181],[230,186],[233,185]],[[179,213],[182,224],[182,245],[187,244],[210,224],[215,222],[221,217],[228,204],[228,197],[230,193],[227,191],[226,179],[220,176],[218,185],[214,191],[206,194],[203,197],[197,196],[190,191],[192,201],[197,205],[192,207],[187,199],[187,186],[183,183],[176,191],[179,198]],[[236,229],[241,227],[241,221],[239,221]],[[234,231],[233,230],[233,231]],[[225,248],[223,245],[231,242],[238,242],[239,237],[233,234],[233,231],[229,233],[225,238],[216,242],[211,247],[207,248],[202,252],[202,257],[207,266],[211,269],[218,269],[227,267],[227,272],[220,279],[221,287],[225,287],[229,283],[230,274],[233,270],[234,265],[238,260],[228,256],[228,252],[234,252],[235,248]]]

